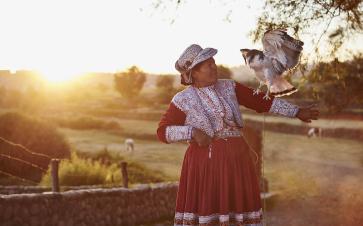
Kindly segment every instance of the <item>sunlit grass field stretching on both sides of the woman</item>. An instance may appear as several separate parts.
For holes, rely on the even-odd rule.
[[[156,121],[118,119],[133,133],[154,134]],[[135,140],[133,153],[125,152],[125,137],[107,131],[61,129],[74,149],[95,153],[107,146],[114,154],[160,170],[179,179],[186,144]],[[359,225],[363,216],[362,143],[332,138],[307,138],[265,132],[263,172],[272,199],[264,205],[268,225]],[[170,225],[172,219],[155,225]]]

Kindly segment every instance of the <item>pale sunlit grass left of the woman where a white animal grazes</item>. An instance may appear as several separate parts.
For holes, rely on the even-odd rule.
[[[150,169],[164,172],[174,180],[178,180],[180,166],[187,147],[183,143],[164,144],[159,141],[135,139],[135,150],[126,152],[125,137],[120,135],[97,130],[61,129],[61,132],[65,134],[73,148],[79,152],[96,154],[107,147],[111,154],[121,155],[127,159],[143,163]]]

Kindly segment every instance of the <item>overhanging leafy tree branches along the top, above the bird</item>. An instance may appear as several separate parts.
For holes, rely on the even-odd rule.
[[[186,0],[154,0],[154,7],[163,8],[169,6],[171,2],[179,6]],[[231,9],[228,14],[231,14],[233,1],[226,3],[219,0],[219,2],[230,4]],[[326,38],[330,55],[336,56],[344,43],[363,32],[362,2],[362,0],[265,0],[263,11],[257,20],[257,28],[251,31],[250,35],[256,42],[260,41],[264,32],[269,29],[292,28],[294,36],[308,33],[315,37],[312,44],[317,53],[320,41]],[[315,28],[314,31],[312,28]]]

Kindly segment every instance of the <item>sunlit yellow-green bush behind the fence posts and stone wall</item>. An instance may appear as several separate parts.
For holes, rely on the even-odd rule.
[[[92,156],[92,158],[87,158],[87,154],[77,155],[72,153],[70,160],[63,160],[59,165],[59,183],[61,186],[120,185],[122,176],[119,163],[121,160],[124,159],[112,156],[105,150]],[[169,179],[159,171],[147,169],[143,164],[132,161],[127,162],[130,184],[155,183]],[[50,186],[51,178],[49,171],[42,178],[41,184]]]

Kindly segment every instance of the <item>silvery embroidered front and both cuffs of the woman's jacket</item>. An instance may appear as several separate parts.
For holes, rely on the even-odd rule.
[[[186,114],[186,119],[184,126],[168,126],[166,139],[169,142],[190,140],[192,127],[204,131],[210,137],[238,136],[237,131],[243,126],[243,122],[235,85],[233,80],[221,79],[215,85],[199,89],[189,86],[176,94],[172,102]],[[296,105],[274,98],[269,112],[295,117],[298,110]],[[225,120],[222,119],[221,112],[225,114]]]

